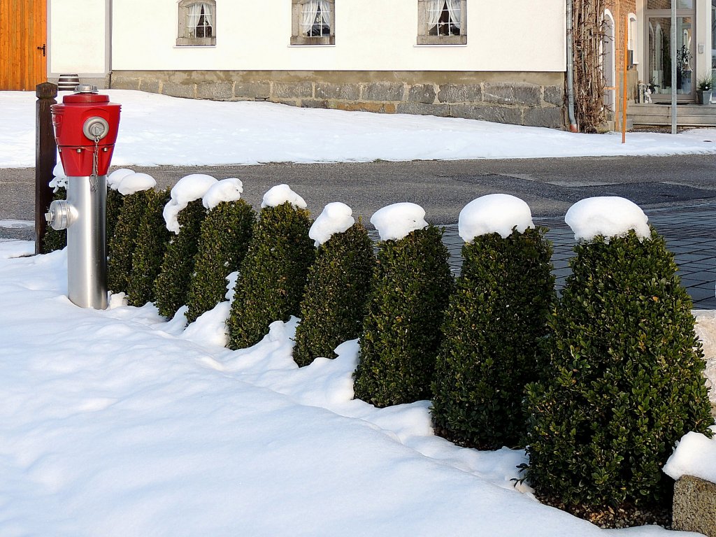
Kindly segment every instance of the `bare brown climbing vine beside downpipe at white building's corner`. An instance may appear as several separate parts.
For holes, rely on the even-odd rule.
[[[579,130],[596,132],[604,123],[602,42],[605,35],[605,0],[574,1],[574,115]]]

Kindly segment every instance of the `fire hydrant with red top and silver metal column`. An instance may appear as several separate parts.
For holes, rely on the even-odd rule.
[[[59,157],[67,175],[67,200],[45,215],[67,229],[67,294],[77,306],[107,308],[107,170],[120,125],[120,105],[97,87],[79,85],[52,105]]]

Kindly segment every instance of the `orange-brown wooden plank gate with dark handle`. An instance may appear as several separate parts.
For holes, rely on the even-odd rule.
[[[0,0],[0,89],[47,81],[47,0]]]

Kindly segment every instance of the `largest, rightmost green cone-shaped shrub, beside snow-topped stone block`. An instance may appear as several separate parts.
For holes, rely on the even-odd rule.
[[[691,300],[653,229],[575,251],[551,359],[527,390],[526,478],[567,505],[667,505],[674,443],[713,423]]]

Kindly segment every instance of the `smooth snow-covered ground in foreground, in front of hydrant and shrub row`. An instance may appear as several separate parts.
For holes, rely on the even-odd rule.
[[[295,322],[219,346],[151,306],[80,309],[66,250],[0,243],[0,535],[591,536],[515,487],[521,451],[457,448],[428,402],[352,400],[357,344],[298,369]]]

